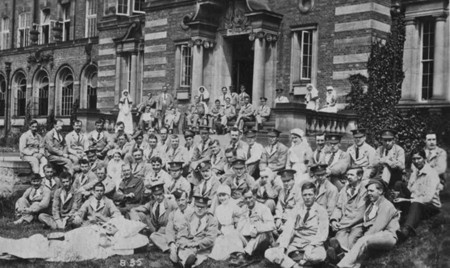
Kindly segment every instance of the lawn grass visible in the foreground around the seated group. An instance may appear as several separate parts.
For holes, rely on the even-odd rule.
[[[450,267],[450,195],[446,194],[442,198],[442,212],[426,221],[422,221],[417,228],[417,235],[411,237],[406,242],[398,244],[390,252],[372,252],[370,257],[363,263],[367,268],[378,267],[398,267],[398,268],[434,268]],[[7,238],[28,237],[34,233],[46,234],[51,232],[43,229],[40,223],[30,225],[14,226],[12,219],[0,218],[0,236]],[[144,251],[144,250],[143,250]],[[139,260],[139,261],[138,261]],[[139,265],[140,264],[140,265]],[[223,268],[227,262],[213,260],[205,261],[201,267]],[[172,267],[168,255],[150,249],[148,252],[136,252],[128,256],[113,256],[104,260],[90,260],[81,262],[46,262],[42,260],[22,261],[22,260],[0,260],[0,267],[17,268],[94,268],[94,267]],[[274,268],[276,265],[261,260],[249,268]]]

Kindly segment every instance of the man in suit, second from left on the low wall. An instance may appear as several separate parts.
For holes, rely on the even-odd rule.
[[[54,128],[45,134],[45,157],[51,164],[60,165],[65,172],[73,174],[73,163],[68,158],[67,144],[60,134],[62,124],[61,119],[56,119]]]

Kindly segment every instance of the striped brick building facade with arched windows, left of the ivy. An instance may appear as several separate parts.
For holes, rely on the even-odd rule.
[[[185,107],[204,85],[244,84],[253,101],[282,87],[299,101],[306,83],[348,91],[366,74],[370,43],[390,30],[388,0],[2,0],[0,125],[54,109],[115,113],[163,85]],[[38,33],[38,34],[37,34]],[[7,106],[7,108],[6,108]],[[93,112],[92,112],[93,111]]]

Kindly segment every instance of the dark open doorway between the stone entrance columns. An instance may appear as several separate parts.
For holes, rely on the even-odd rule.
[[[236,92],[240,93],[240,85],[245,85],[247,94],[252,97],[253,89],[253,42],[248,40],[248,35],[230,37],[232,42],[232,84],[236,86]]]

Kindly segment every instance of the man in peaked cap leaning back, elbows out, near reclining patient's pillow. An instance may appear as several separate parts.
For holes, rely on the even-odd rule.
[[[151,190],[152,200],[131,208],[128,213],[129,219],[147,224],[147,234],[154,232],[164,234],[168,215],[176,209],[176,202],[173,199],[165,198],[164,182],[154,181],[147,187]]]

